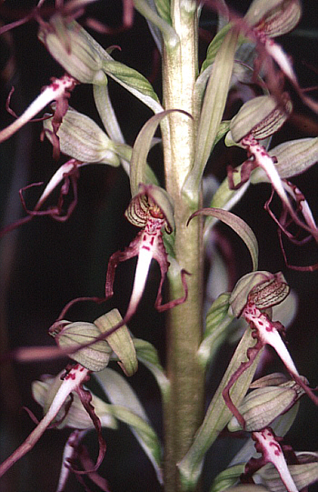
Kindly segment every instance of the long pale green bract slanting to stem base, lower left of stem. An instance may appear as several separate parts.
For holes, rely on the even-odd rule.
[[[94,376],[109,401],[114,405],[114,417],[122,420],[131,428],[134,437],[154,465],[159,482],[162,483],[161,445],[133,388],[124,377],[108,367]]]

